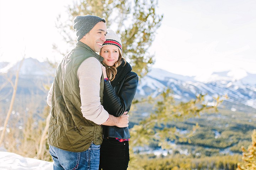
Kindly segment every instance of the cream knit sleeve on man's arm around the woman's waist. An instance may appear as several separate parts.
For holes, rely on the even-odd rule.
[[[78,68],[78,79],[83,116],[101,125],[109,115],[100,103],[100,81],[102,69],[95,57],[89,57]]]

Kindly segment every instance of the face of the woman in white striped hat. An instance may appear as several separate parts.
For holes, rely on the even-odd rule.
[[[114,66],[114,63],[119,57],[118,47],[115,45],[105,45],[101,48],[100,55],[104,58],[104,64],[107,66]]]

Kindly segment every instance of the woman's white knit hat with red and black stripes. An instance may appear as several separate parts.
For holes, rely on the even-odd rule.
[[[102,44],[102,47],[105,45],[115,45],[122,52],[122,42],[119,36],[111,29],[107,29],[106,41]]]

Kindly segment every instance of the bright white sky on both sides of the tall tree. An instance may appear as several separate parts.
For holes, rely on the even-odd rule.
[[[54,22],[68,0],[0,0],[0,62],[54,57]],[[164,14],[150,52],[156,68],[182,75],[232,69],[256,74],[255,0],[159,0]],[[57,60],[60,60],[57,58]]]

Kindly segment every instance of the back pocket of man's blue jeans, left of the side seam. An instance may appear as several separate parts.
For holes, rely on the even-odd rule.
[[[80,152],[69,152],[57,149],[60,164],[67,170],[78,169]]]

